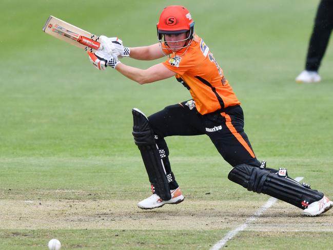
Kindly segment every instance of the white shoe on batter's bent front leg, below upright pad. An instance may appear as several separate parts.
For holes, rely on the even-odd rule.
[[[181,189],[178,187],[176,189],[170,190],[171,199],[168,201],[162,200],[158,195],[153,194],[152,196],[144,199],[138,203],[138,207],[141,209],[153,209],[156,207],[161,207],[164,204],[178,204],[181,203],[185,198],[182,194]]]

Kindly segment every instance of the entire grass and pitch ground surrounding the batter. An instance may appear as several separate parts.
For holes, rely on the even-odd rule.
[[[186,6],[242,102],[260,160],[333,198],[333,42],[319,84],[296,84],[318,1],[2,1],[0,45],[0,249],[209,249],[268,199],[227,180],[208,137],[167,138],[186,200],[145,211],[147,174],[132,130],[147,115],[190,99],[174,79],[140,86],[95,70],[78,48],[42,32],[49,15],[125,46],[156,42],[170,4]],[[8,10],[5,12],[5,10]],[[123,59],[140,68],[159,63]],[[302,217],[277,202],[228,249],[330,249],[333,214]],[[288,242],[286,244],[286,242]]]

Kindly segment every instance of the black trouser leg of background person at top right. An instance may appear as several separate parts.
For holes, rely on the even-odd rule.
[[[314,29],[306,56],[305,69],[318,71],[333,30],[333,0],[322,0],[319,4]]]

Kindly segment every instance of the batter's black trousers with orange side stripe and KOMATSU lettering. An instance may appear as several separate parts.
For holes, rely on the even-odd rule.
[[[169,150],[164,140],[168,136],[196,136],[207,134],[221,156],[231,166],[248,164],[260,166],[251,144],[244,132],[244,115],[240,106],[227,107],[202,115],[191,105],[182,102],[164,108],[148,117],[156,144],[165,166],[166,174],[171,172],[168,160]],[[177,188],[177,182],[170,183],[170,189]]]

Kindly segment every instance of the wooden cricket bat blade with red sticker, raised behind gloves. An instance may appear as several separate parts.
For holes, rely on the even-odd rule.
[[[99,36],[66,23],[52,15],[47,19],[43,31],[57,39],[90,52],[103,49],[103,46],[99,43]]]

